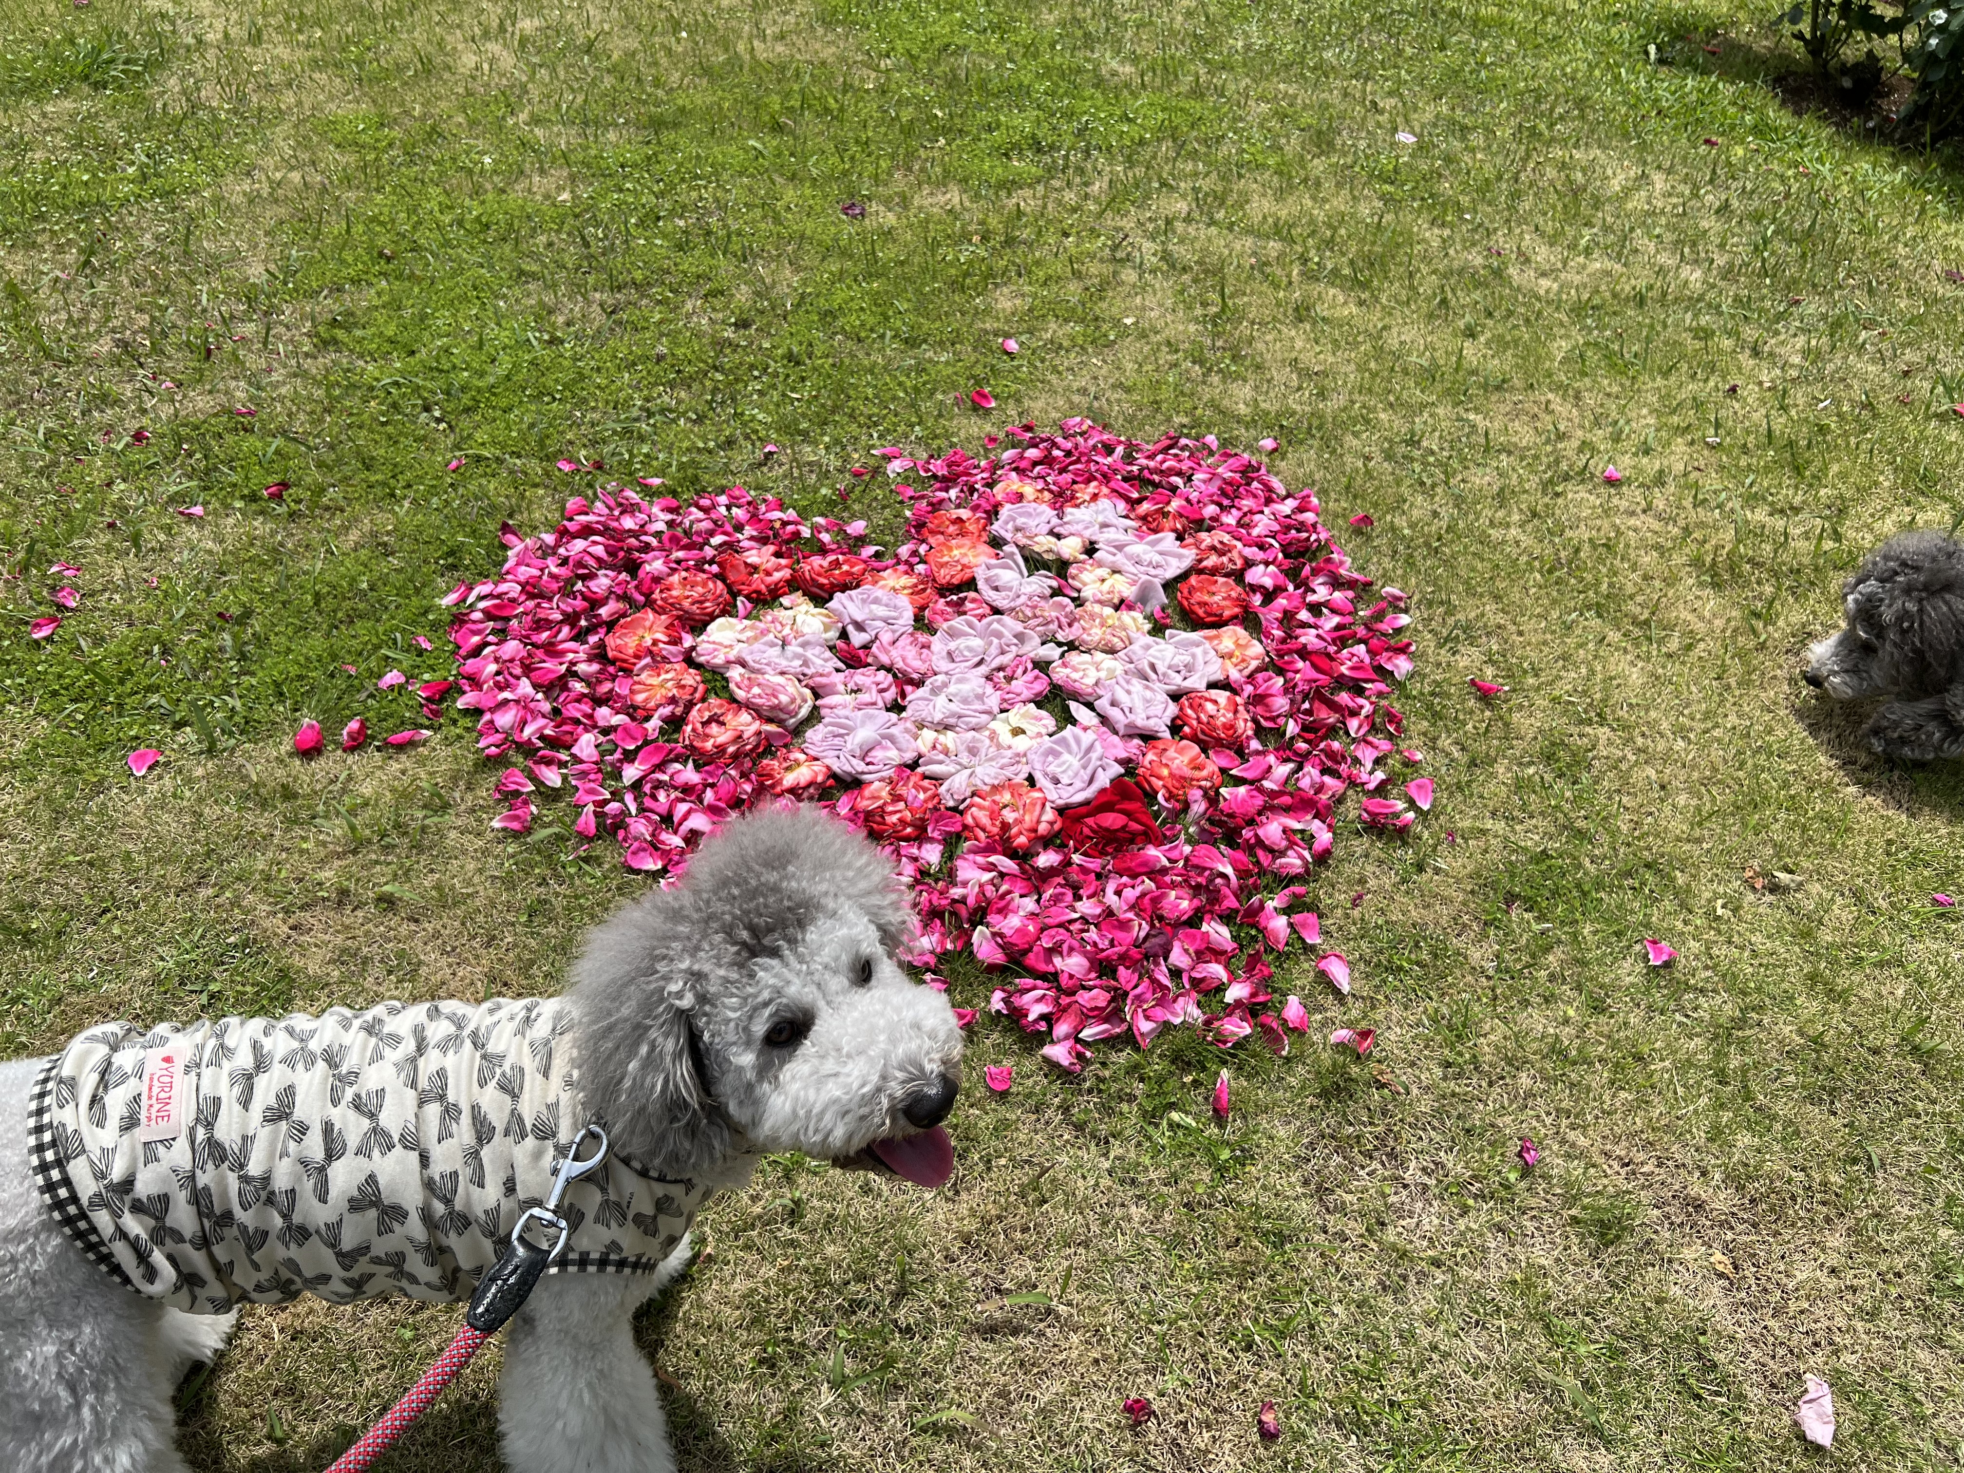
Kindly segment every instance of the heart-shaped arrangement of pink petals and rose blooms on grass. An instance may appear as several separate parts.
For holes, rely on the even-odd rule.
[[[458,703],[517,760],[497,823],[524,833],[532,793],[572,784],[577,835],[680,870],[752,803],[823,801],[900,860],[911,960],[1002,972],[992,1008],[1063,1068],[1169,1023],[1284,1049],[1308,1015],[1263,1011],[1265,949],[1318,941],[1286,882],[1349,788],[1365,825],[1412,823],[1377,795],[1404,595],[1369,595],[1316,497],[1212,436],[1009,436],[994,460],[882,452],[919,481],[892,556],[740,487],[609,487],[505,528],[503,573],[446,599]],[[1339,955],[1322,972],[1347,990]]]

